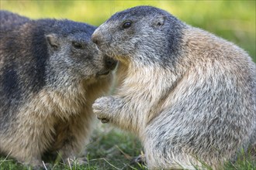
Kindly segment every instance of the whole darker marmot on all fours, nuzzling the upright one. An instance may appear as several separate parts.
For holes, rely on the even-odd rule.
[[[91,41],[94,26],[0,15],[0,152],[31,165],[51,151],[74,159],[115,62]]]

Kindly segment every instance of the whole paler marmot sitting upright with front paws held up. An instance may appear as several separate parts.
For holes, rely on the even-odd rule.
[[[150,169],[218,168],[255,143],[256,68],[243,49],[150,6],[112,15],[92,41],[119,60],[116,94],[94,112],[140,137]]]

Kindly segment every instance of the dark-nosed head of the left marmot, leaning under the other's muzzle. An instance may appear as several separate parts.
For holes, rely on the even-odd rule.
[[[108,76],[116,61],[97,49],[91,41],[94,26],[68,20],[57,21],[45,34],[49,55],[47,80],[67,85],[80,80],[92,83]],[[61,83],[61,84],[60,84]]]

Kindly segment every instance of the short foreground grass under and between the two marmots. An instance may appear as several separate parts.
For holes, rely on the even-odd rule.
[[[92,140],[87,145],[88,165],[64,165],[63,163],[51,162],[50,168],[53,170],[95,170],[95,169],[134,169],[147,170],[145,165],[132,163],[142,152],[140,141],[132,134],[124,133],[113,128],[109,124],[98,123],[92,133]],[[55,165],[54,165],[55,163]],[[209,165],[202,162],[203,168],[212,170]],[[196,168],[196,167],[195,167]],[[236,162],[227,162],[223,170],[253,170],[256,168],[256,158],[241,153]],[[0,158],[0,170],[32,170],[19,164],[9,157]],[[196,168],[202,169],[202,168]]]

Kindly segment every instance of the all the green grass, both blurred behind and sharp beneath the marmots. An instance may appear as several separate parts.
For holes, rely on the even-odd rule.
[[[163,8],[192,26],[206,29],[245,49],[256,62],[255,1],[0,1],[0,8],[32,19],[72,19],[99,26],[113,13],[136,5]],[[102,9],[104,8],[104,9]],[[88,148],[88,165],[62,165],[54,169],[147,169],[130,165],[140,155],[140,141],[108,124],[97,124]],[[1,139],[0,139],[1,140]],[[53,162],[54,163],[54,162]],[[254,158],[241,156],[224,169],[255,169]],[[0,170],[31,169],[9,157],[0,158]],[[209,168],[210,169],[210,168]]]

